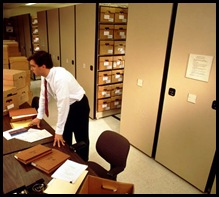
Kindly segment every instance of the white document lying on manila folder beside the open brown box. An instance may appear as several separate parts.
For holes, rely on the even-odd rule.
[[[67,159],[53,174],[52,178],[62,179],[70,183],[75,183],[75,181],[80,177],[80,175],[85,171],[88,166],[85,164],[80,164]]]

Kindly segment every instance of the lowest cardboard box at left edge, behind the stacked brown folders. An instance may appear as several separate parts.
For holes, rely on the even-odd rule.
[[[3,115],[7,115],[10,109],[18,109],[17,89],[14,86],[3,86]]]

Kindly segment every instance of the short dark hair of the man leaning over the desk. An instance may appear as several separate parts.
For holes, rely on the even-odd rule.
[[[46,68],[53,67],[51,55],[46,51],[37,51],[28,57],[27,60],[34,60],[39,67],[41,67],[43,64],[46,66]]]

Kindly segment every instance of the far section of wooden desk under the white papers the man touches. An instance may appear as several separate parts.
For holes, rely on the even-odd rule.
[[[20,108],[25,108],[25,107],[26,108],[30,107],[30,105],[28,103],[24,103],[20,106]],[[46,144],[49,142],[53,142],[54,134],[55,134],[54,129],[45,120],[41,121],[40,126],[41,126],[40,129],[46,129],[53,136],[36,141],[36,142],[33,142],[33,143],[21,141],[21,140],[15,139],[15,138],[13,138],[11,140],[6,140],[3,137],[3,155],[14,153],[14,152],[17,152],[19,150],[26,149],[26,148],[30,148],[31,146],[35,146],[37,144]],[[37,126],[31,127],[31,128],[38,129]],[[6,115],[3,117],[3,131],[7,131],[9,129],[12,129],[11,125],[10,125],[10,117],[9,117],[9,115]]]

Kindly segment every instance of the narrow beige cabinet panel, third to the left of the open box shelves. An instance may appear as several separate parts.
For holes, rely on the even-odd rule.
[[[58,8],[47,10],[48,49],[54,66],[60,66],[59,11]]]

